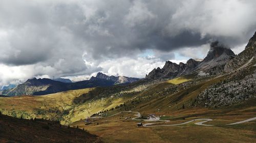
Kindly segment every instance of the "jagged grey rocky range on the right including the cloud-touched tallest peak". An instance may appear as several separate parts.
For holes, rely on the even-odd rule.
[[[252,42],[253,43],[253,42]],[[246,48],[246,51],[251,50]],[[252,58],[252,54],[246,54],[246,60]],[[167,61],[163,68],[153,69],[150,73],[146,75],[146,78],[157,79],[157,78],[175,78],[178,76],[200,73],[201,75],[216,75],[224,72],[225,66],[232,62],[233,59],[240,59],[240,54],[236,56],[233,51],[225,47],[224,45],[219,44],[218,41],[212,42],[210,44],[210,49],[206,57],[202,61],[196,61],[194,59],[189,59],[186,64],[184,63],[173,63]],[[232,60],[232,61],[231,61]],[[244,64],[246,60],[240,63]],[[229,64],[230,65],[230,64]],[[226,70],[227,70],[226,66]]]

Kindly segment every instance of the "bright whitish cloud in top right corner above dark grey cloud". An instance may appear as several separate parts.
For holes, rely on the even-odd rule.
[[[217,0],[182,1],[170,19],[167,30],[172,36],[183,30],[205,35],[223,37],[244,37],[256,27],[255,1]],[[253,33],[253,31],[252,31]]]

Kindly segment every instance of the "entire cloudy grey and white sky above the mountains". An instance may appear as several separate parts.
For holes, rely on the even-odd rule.
[[[0,0],[0,87],[28,78],[143,78],[165,61],[203,59],[215,40],[241,52],[254,0]]]

